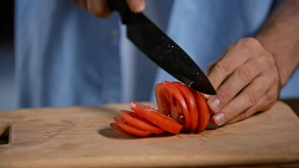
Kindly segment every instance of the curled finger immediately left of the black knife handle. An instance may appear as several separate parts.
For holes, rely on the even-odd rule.
[[[87,0],[87,9],[98,17],[108,18],[111,15],[107,0]]]

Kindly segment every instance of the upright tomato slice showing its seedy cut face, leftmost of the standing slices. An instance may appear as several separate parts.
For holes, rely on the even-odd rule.
[[[190,114],[184,97],[175,84],[162,81],[155,86],[155,96],[159,112],[171,117],[184,126],[184,131],[190,127]]]

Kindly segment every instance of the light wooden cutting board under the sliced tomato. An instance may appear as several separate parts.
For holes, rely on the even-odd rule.
[[[121,109],[130,105],[0,113],[2,140],[10,133],[9,144],[0,145],[0,168],[299,167],[299,118],[282,102],[232,125],[209,126],[201,134],[150,138],[110,128]]]

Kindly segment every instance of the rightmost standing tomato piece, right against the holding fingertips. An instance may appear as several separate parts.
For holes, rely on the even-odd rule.
[[[197,132],[202,132],[210,122],[211,113],[209,111],[207,101],[193,88],[190,88],[191,92],[194,95],[196,100],[197,109],[198,109],[198,127]]]

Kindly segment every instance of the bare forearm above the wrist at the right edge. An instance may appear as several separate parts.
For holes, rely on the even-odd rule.
[[[285,0],[256,38],[273,55],[284,87],[299,65],[299,0]]]

